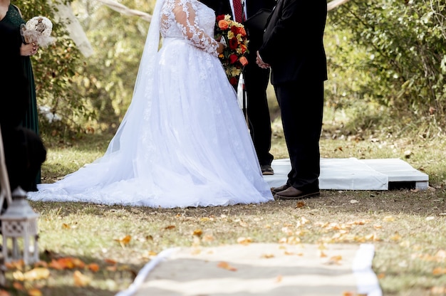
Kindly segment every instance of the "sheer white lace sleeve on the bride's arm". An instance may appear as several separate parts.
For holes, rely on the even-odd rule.
[[[197,48],[218,56],[218,41],[212,36],[207,35],[202,28],[199,27],[196,5],[191,0],[175,0],[173,14],[178,28],[182,35]]]

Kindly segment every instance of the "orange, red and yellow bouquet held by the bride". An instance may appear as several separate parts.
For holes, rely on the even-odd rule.
[[[233,21],[229,14],[217,16],[215,39],[224,43],[224,51],[219,55],[223,68],[229,79],[229,83],[237,85],[239,75],[244,65],[248,63],[246,54],[248,51],[247,31],[242,23]]]

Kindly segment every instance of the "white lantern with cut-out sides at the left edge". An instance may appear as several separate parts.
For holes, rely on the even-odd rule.
[[[38,261],[38,213],[34,212],[28,201],[26,191],[21,187],[12,192],[12,202],[6,208],[1,220],[1,235],[3,236],[4,263],[23,259],[26,265]],[[8,239],[12,239],[12,250],[7,247]],[[23,240],[23,252],[19,250],[19,238]],[[33,246],[31,248],[31,241]]]

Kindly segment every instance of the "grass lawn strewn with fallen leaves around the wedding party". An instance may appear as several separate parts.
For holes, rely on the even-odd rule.
[[[280,123],[273,127],[271,152],[276,159],[288,157]],[[100,157],[109,139],[88,134],[72,142],[48,141],[43,182]],[[299,207],[296,201],[175,209],[30,202],[41,215],[39,250],[49,276],[24,280],[14,268],[6,273],[7,288],[16,293],[11,295],[115,295],[166,248],[237,244],[241,237],[279,243],[296,236],[301,243],[373,243],[373,270],[384,295],[446,295],[445,142],[441,137],[364,139],[324,127],[321,157],[401,158],[430,176],[425,191],[327,190]],[[302,218],[308,220],[305,228]],[[322,227],[327,224],[339,227]],[[67,257],[73,258],[69,264],[61,261]]]

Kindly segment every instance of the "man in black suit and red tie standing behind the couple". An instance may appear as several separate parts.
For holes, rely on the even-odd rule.
[[[217,16],[229,14],[233,16],[233,0],[201,0],[214,9]],[[260,9],[273,9],[276,0],[243,0],[246,15],[245,20],[256,14]],[[232,17],[232,19],[235,19]],[[249,131],[256,149],[257,158],[261,166],[262,174],[274,174],[271,168],[273,156],[271,149],[271,118],[269,117],[266,88],[269,83],[269,68],[259,68],[256,65],[256,51],[263,41],[263,31],[254,28],[247,29],[249,35],[248,64],[244,67],[244,88],[247,92],[247,115]]]

